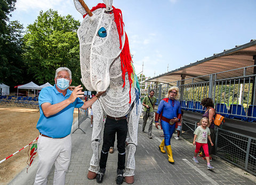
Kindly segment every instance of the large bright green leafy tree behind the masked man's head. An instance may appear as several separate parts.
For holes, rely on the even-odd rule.
[[[72,72],[72,85],[81,84],[79,40],[76,30],[80,22],[71,15],[61,16],[57,11],[41,11],[24,36],[24,58],[28,73],[37,83],[54,83],[55,70],[61,66]]]

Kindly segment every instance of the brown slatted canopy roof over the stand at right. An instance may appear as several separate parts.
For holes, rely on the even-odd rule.
[[[255,57],[254,57],[255,56]],[[254,65],[256,61],[256,39],[250,43],[235,46],[233,49],[225,49],[222,53],[213,54],[201,61],[185,65],[179,69],[158,75],[157,77],[146,80],[146,82],[161,82],[176,85],[176,81],[183,79],[196,78],[199,81],[209,81],[209,74],[219,73],[218,79],[241,77],[244,70],[236,70]],[[227,71],[225,73],[221,73]],[[246,75],[252,75],[253,68],[246,70]]]

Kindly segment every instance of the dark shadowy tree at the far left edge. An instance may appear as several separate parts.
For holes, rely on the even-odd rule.
[[[9,16],[15,10],[16,0],[0,0],[0,83],[11,88],[23,82],[22,33],[18,21],[10,22]]]

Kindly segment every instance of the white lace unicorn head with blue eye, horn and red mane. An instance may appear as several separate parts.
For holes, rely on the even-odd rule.
[[[84,16],[77,30],[82,82],[86,89],[95,91],[105,91],[109,87],[110,66],[120,57],[127,38],[121,10],[112,6],[113,0],[103,0],[103,2],[105,4],[98,4],[90,11],[83,0],[74,0],[76,9]],[[131,60],[129,45],[125,50]],[[121,65],[123,65],[122,56]],[[128,68],[132,67],[128,66]],[[123,72],[127,71],[131,69],[125,69]]]

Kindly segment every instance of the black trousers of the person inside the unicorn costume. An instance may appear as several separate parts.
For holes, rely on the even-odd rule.
[[[100,168],[105,169],[108,160],[108,151],[112,147],[113,138],[117,134],[118,162],[117,168],[125,169],[125,140],[127,135],[127,120],[114,120],[107,117],[104,132],[103,145],[100,154]]]

